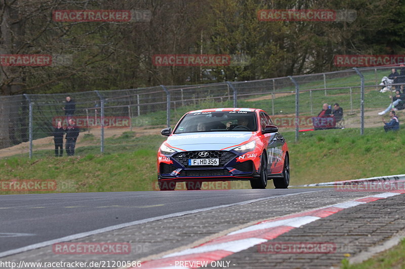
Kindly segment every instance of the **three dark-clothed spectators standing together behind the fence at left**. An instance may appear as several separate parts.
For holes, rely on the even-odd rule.
[[[68,156],[74,155],[74,148],[76,146],[76,140],[79,136],[79,129],[76,126],[73,115],[74,111],[76,110],[75,102],[70,98],[70,96],[66,97],[66,104],[62,107],[62,110],[65,111],[65,116],[67,120],[67,127],[62,127],[62,122],[58,122],[57,126],[54,128],[53,136],[55,142],[55,156],[61,157],[63,155],[63,136],[66,134],[66,154]]]

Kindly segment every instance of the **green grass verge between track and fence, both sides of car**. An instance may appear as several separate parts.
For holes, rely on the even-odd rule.
[[[369,128],[363,136],[350,129],[312,131],[297,143],[294,132],[284,135],[291,185],[403,173],[398,165],[405,154],[402,131]],[[84,146],[73,157],[51,157],[50,150],[37,151],[32,159],[16,155],[0,160],[0,180],[55,180],[56,192],[153,190],[156,151],[164,140],[160,135],[135,137],[126,132],[106,141],[106,151],[116,153],[99,154],[99,146]]]

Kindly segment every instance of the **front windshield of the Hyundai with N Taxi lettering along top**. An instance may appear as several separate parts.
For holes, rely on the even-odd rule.
[[[255,113],[247,111],[189,113],[181,120],[174,133],[228,131],[257,131]]]

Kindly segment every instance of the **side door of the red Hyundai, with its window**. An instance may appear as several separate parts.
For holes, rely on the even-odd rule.
[[[265,113],[261,114],[260,122],[262,122],[262,117],[263,122],[265,122],[268,125],[274,125],[267,114]],[[282,172],[282,165],[284,164],[283,146],[285,143],[286,140],[280,133],[276,132],[270,134],[269,143],[267,145],[268,173],[275,174]]]

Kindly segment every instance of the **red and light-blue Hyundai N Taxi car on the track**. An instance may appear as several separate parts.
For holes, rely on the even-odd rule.
[[[201,182],[249,180],[264,189],[290,184],[287,142],[270,117],[260,109],[205,109],[186,113],[157,153],[160,190],[174,190],[186,182],[188,190]]]

